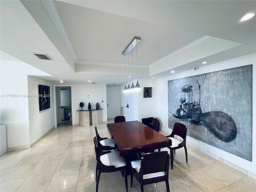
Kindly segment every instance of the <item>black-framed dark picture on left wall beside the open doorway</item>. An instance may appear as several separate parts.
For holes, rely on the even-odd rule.
[[[50,87],[38,85],[39,111],[50,108]]]

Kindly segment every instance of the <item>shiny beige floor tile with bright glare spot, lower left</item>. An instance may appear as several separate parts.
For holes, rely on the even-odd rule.
[[[52,176],[52,180],[47,190],[52,190],[72,184],[76,184],[78,180],[80,166],[56,171]]]

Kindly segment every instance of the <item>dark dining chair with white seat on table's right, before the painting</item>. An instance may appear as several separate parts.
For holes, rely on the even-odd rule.
[[[166,136],[172,140],[172,146],[168,146],[168,148],[170,149],[171,168],[173,167],[173,158],[174,158],[176,149],[184,147],[185,155],[186,155],[186,162],[188,162],[186,136],[187,136],[187,128],[182,123],[174,123],[172,133],[170,135]]]

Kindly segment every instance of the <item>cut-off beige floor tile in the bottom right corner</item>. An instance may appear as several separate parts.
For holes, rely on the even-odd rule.
[[[255,192],[256,182],[254,179],[246,176],[232,184],[229,185],[232,190],[236,192]]]

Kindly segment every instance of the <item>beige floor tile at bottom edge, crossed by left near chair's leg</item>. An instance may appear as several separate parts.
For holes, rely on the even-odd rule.
[[[90,179],[77,183],[76,192],[89,192],[96,191],[96,182],[95,179]],[[100,178],[98,192],[107,192],[106,183],[104,176]]]

